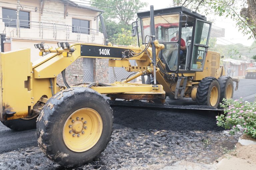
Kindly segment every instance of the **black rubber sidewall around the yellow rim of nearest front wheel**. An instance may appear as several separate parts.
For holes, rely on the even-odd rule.
[[[74,88],[76,89],[76,88]],[[83,88],[82,90],[84,90]],[[97,92],[91,89],[85,90],[85,93],[79,93],[63,96],[59,101],[56,99],[50,99],[44,107],[44,115],[49,114],[49,117],[44,116],[41,122],[51,119],[51,123],[45,125],[44,129],[47,129],[47,137],[43,142],[48,145],[48,153],[46,156],[56,163],[66,166],[79,166],[87,162],[91,162],[95,157],[105,149],[108,141],[110,140],[113,126],[112,109],[109,103]],[[70,92],[72,93],[72,92]],[[64,94],[64,93],[63,93]],[[56,94],[58,95],[58,94]],[[50,109],[47,104],[54,104],[54,107]],[[103,123],[102,134],[98,142],[89,150],[85,152],[71,151],[63,141],[63,127],[69,116],[82,108],[91,108],[99,113]],[[38,128],[40,127],[38,123]],[[70,165],[72,163],[72,165]]]

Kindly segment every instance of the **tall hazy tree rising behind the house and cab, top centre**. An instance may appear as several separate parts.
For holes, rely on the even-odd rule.
[[[92,0],[91,5],[105,11],[104,18],[107,22],[118,19],[119,23],[129,25],[147,3],[140,0]]]

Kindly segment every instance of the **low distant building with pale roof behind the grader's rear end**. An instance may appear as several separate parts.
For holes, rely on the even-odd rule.
[[[231,70],[232,70],[231,76],[232,77],[245,76],[245,74],[246,74],[245,70],[247,67],[249,67],[250,62],[227,58],[227,59],[223,59],[223,65],[224,65],[224,69],[225,69],[226,73],[227,73],[228,67],[231,68]]]

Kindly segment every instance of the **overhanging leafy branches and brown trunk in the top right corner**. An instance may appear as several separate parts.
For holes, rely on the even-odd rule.
[[[174,0],[177,5],[195,11],[203,11],[206,15],[213,13],[232,18],[244,35],[256,38],[256,0]],[[248,7],[247,7],[248,6]],[[239,10],[240,8],[241,11]]]

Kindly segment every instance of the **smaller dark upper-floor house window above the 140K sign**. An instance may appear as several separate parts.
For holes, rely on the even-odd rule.
[[[90,21],[72,18],[72,33],[90,34]]]

